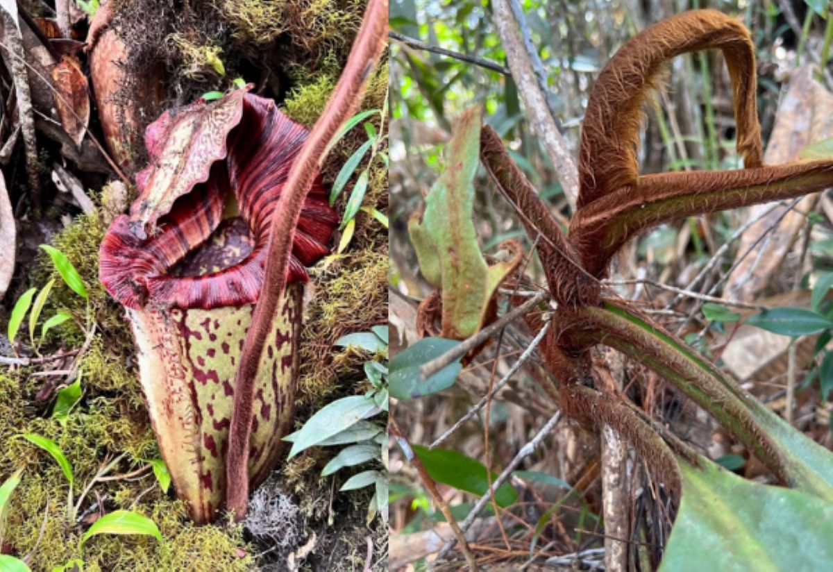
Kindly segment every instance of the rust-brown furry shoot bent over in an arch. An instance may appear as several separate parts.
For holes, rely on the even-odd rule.
[[[716,10],[693,10],[646,28],[620,48],[596,79],[581,126],[581,209],[621,187],[636,187],[641,107],[672,57],[718,47],[734,92],[737,150],[746,167],[761,165],[755,47],[741,22]]]

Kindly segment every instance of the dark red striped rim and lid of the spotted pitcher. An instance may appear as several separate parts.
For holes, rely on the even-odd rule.
[[[257,300],[272,215],[307,128],[247,91],[198,100],[147,127],[151,162],[137,174],[140,194],[130,214],[112,222],[100,251],[99,278],[124,306],[207,310]],[[177,265],[212,238],[232,192],[252,250],[220,271],[178,274]],[[337,222],[317,177],[295,229],[288,281],[307,280],[305,266],[327,255]]]

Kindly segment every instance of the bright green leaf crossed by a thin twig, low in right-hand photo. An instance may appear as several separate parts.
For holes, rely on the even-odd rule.
[[[472,495],[482,496],[489,490],[486,467],[481,462],[455,450],[429,450],[421,445],[413,445],[413,450],[431,479]],[[497,479],[495,471],[491,471],[491,479]],[[506,507],[517,500],[517,493],[509,483],[504,483],[495,491],[495,500],[499,506]]]

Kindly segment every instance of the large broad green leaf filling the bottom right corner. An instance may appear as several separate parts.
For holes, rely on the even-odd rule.
[[[661,572],[830,569],[830,501],[704,463],[681,463],[682,500]]]

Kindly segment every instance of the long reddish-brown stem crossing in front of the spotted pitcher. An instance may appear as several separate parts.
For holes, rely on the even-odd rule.
[[[243,346],[240,368],[235,379],[226,475],[227,508],[232,510],[236,520],[241,520],[246,514],[248,500],[248,457],[252,433],[254,379],[267,336],[272,330],[278,302],[286,291],[294,229],[307,191],[326,158],[327,144],[338,128],[356,112],[367,78],[382,56],[387,43],[387,4],[387,0],[368,2],[362,27],[347,58],[347,66],[322,116],[312,128],[301,152],[292,164],[286,186],[276,206],[277,215],[272,221],[263,289],[255,306],[252,326]]]

